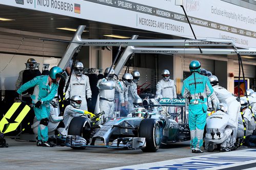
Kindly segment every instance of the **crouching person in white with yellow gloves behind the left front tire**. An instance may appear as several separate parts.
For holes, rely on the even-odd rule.
[[[81,109],[81,105],[82,105],[81,96],[73,95],[70,99],[70,105],[68,105],[65,108],[65,111],[64,111],[63,122],[65,124],[66,131],[68,131],[69,124],[70,124],[73,117],[83,116],[83,115],[87,115],[87,116],[90,115],[90,116],[88,116],[88,118],[92,118],[92,117],[95,116],[94,114],[92,114],[92,113],[90,113],[86,110]]]

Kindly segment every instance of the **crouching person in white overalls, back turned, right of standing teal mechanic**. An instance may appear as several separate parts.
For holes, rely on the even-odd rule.
[[[232,145],[229,141],[232,136],[232,128],[234,122],[227,114],[228,106],[225,103],[220,103],[216,112],[211,114],[206,119],[206,134],[205,134],[205,149],[208,152],[213,152],[220,144],[221,152],[232,151]]]

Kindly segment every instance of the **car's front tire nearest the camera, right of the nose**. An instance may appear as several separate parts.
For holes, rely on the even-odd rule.
[[[161,130],[159,123],[153,118],[145,118],[139,126],[139,137],[145,137],[146,147],[143,152],[156,152],[161,144]]]

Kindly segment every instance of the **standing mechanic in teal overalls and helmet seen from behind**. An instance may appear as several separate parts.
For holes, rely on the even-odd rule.
[[[201,63],[193,60],[189,64],[191,76],[183,81],[182,95],[186,97],[188,105],[188,124],[190,129],[190,148],[192,153],[203,153],[203,134],[207,114],[207,98],[213,88],[206,76],[200,75]]]

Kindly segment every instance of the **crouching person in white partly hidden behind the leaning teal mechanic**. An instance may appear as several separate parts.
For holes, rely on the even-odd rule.
[[[66,136],[67,131],[65,130],[65,125],[62,122],[64,116],[58,116],[60,115],[60,108],[58,106],[58,98],[55,97],[50,102],[50,116],[49,116],[49,124],[48,124],[48,138],[55,138],[55,130],[58,132],[61,136]],[[37,134],[38,126],[40,125],[40,121],[34,118],[33,125],[31,126],[33,129],[34,134]]]

